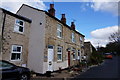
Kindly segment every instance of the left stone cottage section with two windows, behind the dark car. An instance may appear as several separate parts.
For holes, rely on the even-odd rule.
[[[0,8],[0,59],[27,66],[31,20]]]

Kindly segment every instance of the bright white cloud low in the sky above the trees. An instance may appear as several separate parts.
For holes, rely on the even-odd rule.
[[[118,26],[111,26],[91,31],[92,38],[86,39],[85,42],[90,41],[94,47],[97,47],[98,44],[99,46],[105,47],[109,42],[109,36],[114,32],[118,32]]]

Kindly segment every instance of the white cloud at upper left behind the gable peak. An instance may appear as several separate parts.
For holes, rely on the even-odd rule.
[[[2,0],[0,7],[15,13],[22,4],[27,4],[42,10],[46,9],[45,4],[40,0]]]

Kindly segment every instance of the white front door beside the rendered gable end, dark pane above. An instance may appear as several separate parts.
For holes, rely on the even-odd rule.
[[[53,71],[53,56],[54,56],[54,49],[52,45],[48,46],[48,70]]]

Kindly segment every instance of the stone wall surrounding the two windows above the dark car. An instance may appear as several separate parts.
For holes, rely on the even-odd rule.
[[[22,64],[27,64],[30,23],[24,21],[23,34],[17,33],[14,32],[15,19],[16,18],[11,15],[6,15],[3,32],[2,58],[21,66]],[[22,46],[22,55],[20,61],[11,60],[12,45]]]

